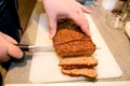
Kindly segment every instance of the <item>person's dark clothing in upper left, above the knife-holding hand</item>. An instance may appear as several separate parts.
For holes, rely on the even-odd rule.
[[[17,14],[16,0],[3,0],[5,6],[0,12],[0,31],[9,34],[20,42],[18,29],[21,29]]]

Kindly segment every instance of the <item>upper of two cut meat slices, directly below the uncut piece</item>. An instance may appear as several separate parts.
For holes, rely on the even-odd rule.
[[[70,57],[62,58],[58,66],[63,69],[92,68],[98,64],[93,57]]]

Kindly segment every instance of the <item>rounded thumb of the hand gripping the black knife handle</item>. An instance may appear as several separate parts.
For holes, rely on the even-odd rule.
[[[9,44],[8,55],[13,57],[13,58],[21,59],[24,54],[17,46],[15,46],[13,44]]]

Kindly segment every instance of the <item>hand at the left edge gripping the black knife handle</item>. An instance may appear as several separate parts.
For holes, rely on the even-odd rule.
[[[17,44],[15,40],[0,32],[0,62],[10,60],[10,57],[23,57],[23,52],[14,44]]]

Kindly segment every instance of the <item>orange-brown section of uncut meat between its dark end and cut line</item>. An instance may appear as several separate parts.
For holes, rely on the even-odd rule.
[[[89,37],[86,37],[83,33],[76,31],[74,29],[60,29],[56,35],[53,38],[54,44],[64,44],[72,41],[80,40],[91,40]]]

